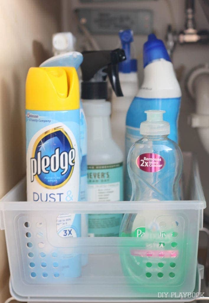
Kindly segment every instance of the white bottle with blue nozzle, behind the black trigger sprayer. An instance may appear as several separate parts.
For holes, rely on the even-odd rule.
[[[133,31],[130,29],[119,31],[122,48],[126,54],[126,60],[119,63],[119,80],[123,97],[112,96],[111,126],[113,139],[118,144],[125,158],[125,133],[126,114],[129,106],[136,95],[138,86],[137,60],[131,56],[133,44]]]

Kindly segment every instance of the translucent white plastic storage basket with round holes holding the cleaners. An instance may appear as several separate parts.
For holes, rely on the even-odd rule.
[[[22,180],[0,203],[11,294],[20,301],[140,302],[155,300],[159,292],[168,292],[168,297],[171,292],[193,292],[206,203],[198,165],[189,153],[184,155],[183,188],[185,201],[18,202],[25,199]],[[145,234],[62,238],[56,220],[69,213],[140,214]],[[88,257],[77,278],[67,274],[73,255]]]

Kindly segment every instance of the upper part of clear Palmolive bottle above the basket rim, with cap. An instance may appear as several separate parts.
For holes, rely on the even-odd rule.
[[[168,138],[170,125],[161,110],[148,110],[140,125],[143,136],[129,150],[128,172],[131,201],[180,200],[179,181],[183,157],[178,145]]]

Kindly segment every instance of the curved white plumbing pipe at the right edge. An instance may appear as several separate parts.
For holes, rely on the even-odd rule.
[[[191,126],[198,128],[201,142],[209,153],[209,64],[194,68],[187,88],[196,103],[196,113],[191,115]]]

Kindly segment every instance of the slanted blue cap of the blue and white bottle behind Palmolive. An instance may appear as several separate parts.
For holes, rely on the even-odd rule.
[[[144,68],[152,61],[161,58],[171,62],[171,58],[169,57],[162,40],[157,39],[155,34],[150,34],[143,49]]]

